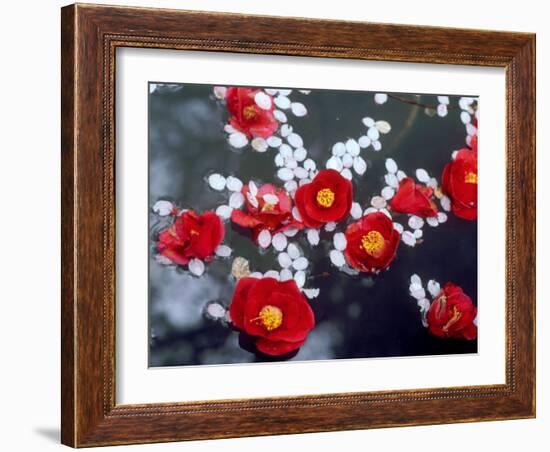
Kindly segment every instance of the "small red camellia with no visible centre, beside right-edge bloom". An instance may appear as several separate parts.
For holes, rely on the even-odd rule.
[[[424,218],[437,215],[433,190],[425,185],[416,184],[410,177],[401,180],[397,193],[390,202],[390,207],[394,212],[408,213]]]

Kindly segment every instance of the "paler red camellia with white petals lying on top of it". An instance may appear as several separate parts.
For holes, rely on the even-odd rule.
[[[303,227],[292,217],[292,200],[285,190],[264,184],[254,192],[251,192],[250,185],[243,186],[246,212],[238,209],[231,212],[231,221],[252,229],[254,240],[264,229],[276,234],[285,229]]]

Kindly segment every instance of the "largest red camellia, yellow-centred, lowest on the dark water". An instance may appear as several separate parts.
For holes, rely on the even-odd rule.
[[[257,337],[266,355],[284,355],[302,346],[315,326],[313,311],[294,280],[241,278],[229,307],[233,325]]]

